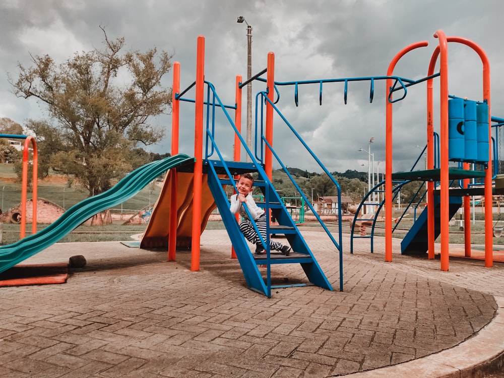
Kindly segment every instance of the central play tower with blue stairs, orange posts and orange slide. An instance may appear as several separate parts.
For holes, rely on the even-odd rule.
[[[258,109],[256,118],[256,144],[255,152],[250,151],[241,137],[241,89],[247,84],[242,83],[241,77],[236,77],[236,104],[224,105],[212,83],[204,80],[204,37],[198,37],[196,81],[185,90],[180,90],[180,64],[175,62],[173,66],[173,121],[172,121],[172,154],[178,152],[178,125],[180,102],[195,103],[195,164],[185,169],[171,169],[162,190],[164,200],[158,200],[154,206],[149,227],[142,238],[141,246],[168,246],[168,260],[175,259],[175,247],[185,246],[191,248],[191,269],[199,270],[200,260],[200,236],[208,216],[217,207],[233,245],[232,257],[236,257],[242,269],[245,281],[250,289],[271,296],[271,289],[287,286],[305,286],[307,283],[289,285],[273,285],[271,266],[281,264],[298,264],[306,274],[310,285],[317,285],[328,290],[332,286],[322,272],[321,267],[314,258],[309,246],[306,244],[296,223],[290,216],[284,201],[279,197],[271,182],[273,157],[287,170],[273,149],[273,112],[281,114],[274,105],[274,54],[268,54],[267,69],[250,80],[256,80],[265,72],[267,86],[265,91],[257,95],[257,103],[266,104]],[[206,98],[204,87],[207,87]],[[195,87],[195,100],[182,97],[190,89]],[[206,128],[203,127],[204,109],[206,106]],[[233,109],[234,118],[228,113]],[[218,145],[216,135],[215,117],[216,111],[222,111],[229,123],[229,130],[234,132],[233,160],[223,158],[223,148]],[[265,123],[263,123],[265,122]],[[265,126],[264,126],[265,124]],[[287,122],[288,124],[288,122]],[[289,128],[292,129],[290,125]],[[264,130],[263,130],[264,128]],[[295,133],[295,131],[293,130]],[[229,134],[229,131],[227,131]],[[297,134],[297,133],[296,133]],[[298,137],[299,138],[299,137]],[[205,145],[203,145],[205,140]],[[224,147],[226,148],[227,145]],[[243,148],[250,158],[250,163],[240,161],[240,150]],[[306,146],[307,148],[307,146]],[[309,150],[309,149],[308,149]],[[203,151],[205,155],[203,156]],[[324,168],[325,169],[325,168]],[[327,171],[327,169],[326,169]],[[261,238],[265,247],[265,255],[254,255],[239,230],[236,218],[229,211],[229,199],[224,187],[232,185],[236,190],[235,180],[237,175],[244,172],[256,172],[259,176],[255,180],[255,186],[259,187],[264,196],[263,206],[265,212],[270,214],[278,225],[267,224],[267,238]],[[301,193],[292,176],[287,173],[290,180]],[[337,182],[336,182],[337,185]],[[338,185],[339,189],[339,185]],[[339,191],[340,192],[340,191]],[[168,199],[169,197],[169,199]],[[307,203],[307,199],[303,198]],[[247,210],[248,211],[248,210]],[[164,220],[169,219],[169,226],[156,227],[157,221],[163,215]],[[151,226],[152,225],[152,226]],[[256,231],[257,227],[256,227]],[[339,243],[334,239],[329,230],[326,232],[332,239],[341,255],[341,233]],[[284,235],[293,248],[293,252],[287,257],[270,251],[270,235]],[[266,266],[266,277],[263,277],[259,266]],[[341,265],[342,268],[342,265]],[[340,269],[340,290],[342,290],[342,269]]]

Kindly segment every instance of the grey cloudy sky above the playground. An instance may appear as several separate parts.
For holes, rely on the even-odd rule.
[[[205,79],[233,105],[236,75],[246,77],[246,25],[236,22],[243,16],[253,27],[253,74],[266,68],[267,54],[273,51],[279,82],[385,76],[395,54],[427,41],[429,46],[410,52],[396,66],[397,76],[417,80],[426,76],[436,30],[468,38],[489,57],[492,115],[504,117],[502,14],[502,0],[3,0],[0,116],[21,124],[44,117],[45,108],[35,99],[15,97],[8,75],[16,77],[18,62],[30,66],[30,54],[49,54],[59,63],[75,52],[101,48],[100,25],[109,38],[123,36],[130,49],[157,47],[173,53],[173,61],[181,64],[182,88],[195,80],[197,37],[205,36]],[[482,100],[482,66],[474,51],[450,44],[449,71],[450,94]],[[170,72],[163,84],[171,82]],[[255,82],[253,90],[265,90],[265,84]],[[194,92],[184,97],[194,97]],[[244,109],[245,98],[244,90]],[[374,169],[383,172],[385,82],[375,82],[372,103],[368,82],[349,83],[346,105],[343,98],[342,84],[326,84],[320,106],[319,86],[304,85],[296,107],[294,88],[281,87],[277,106],[330,171],[367,171],[368,154],[358,150],[367,150],[374,138]],[[218,119],[217,138],[230,146],[232,132]],[[437,128],[438,119],[435,113]],[[166,128],[166,137],[148,149],[170,152],[171,117],[153,123]],[[194,155],[194,105],[182,103],[180,127],[180,152]],[[425,84],[418,84],[395,106],[393,170],[411,168],[420,154],[417,146],[426,143],[425,130]],[[278,118],[273,144],[287,166],[321,171]]]

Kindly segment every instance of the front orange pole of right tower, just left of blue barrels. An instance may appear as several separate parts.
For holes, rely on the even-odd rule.
[[[442,30],[437,30],[434,37],[439,39],[439,83],[440,83],[440,227],[441,227],[441,270],[449,269],[450,248],[450,209],[449,209],[449,161],[448,161],[448,41]]]

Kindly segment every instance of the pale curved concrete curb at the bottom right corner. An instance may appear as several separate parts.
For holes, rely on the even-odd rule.
[[[497,314],[474,337],[416,360],[345,375],[345,378],[464,378],[504,367],[504,298],[495,297]],[[333,375],[334,376],[334,375]]]

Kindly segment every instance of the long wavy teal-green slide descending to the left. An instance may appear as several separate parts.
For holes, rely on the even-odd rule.
[[[177,154],[135,169],[108,191],[72,206],[43,230],[13,244],[0,246],[0,273],[56,243],[93,215],[132,198],[168,169],[193,163],[194,158]]]

